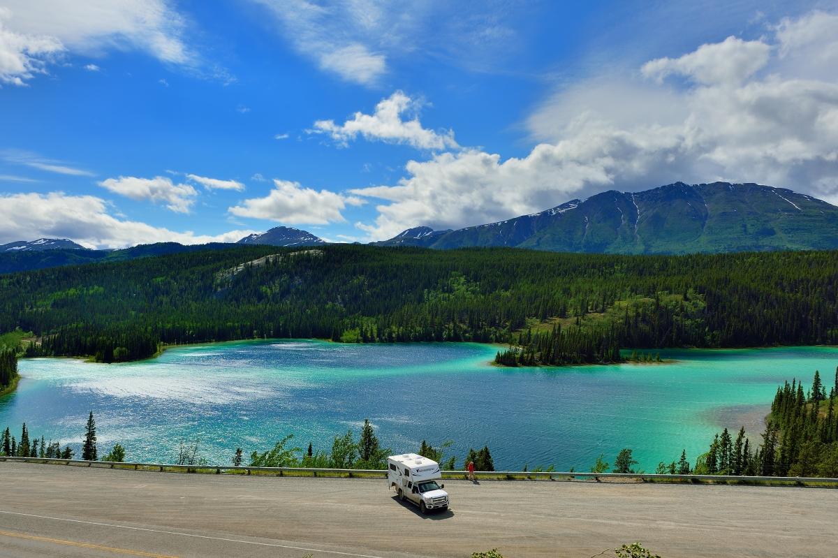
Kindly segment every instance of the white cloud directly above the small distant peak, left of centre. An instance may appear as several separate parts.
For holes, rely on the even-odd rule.
[[[239,217],[253,217],[286,223],[287,225],[328,225],[342,222],[340,212],[347,205],[360,205],[364,201],[353,196],[335,194],[328,190],[319,192],[303,188],[300,183],[274,180],[274,189],[264,198],[246,199],[229,209]]]

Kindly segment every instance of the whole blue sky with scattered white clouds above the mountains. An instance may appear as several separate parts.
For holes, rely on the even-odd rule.
[[[379,240],[677,180],[836,203],[836,14],[3,0],[0,242]]]

